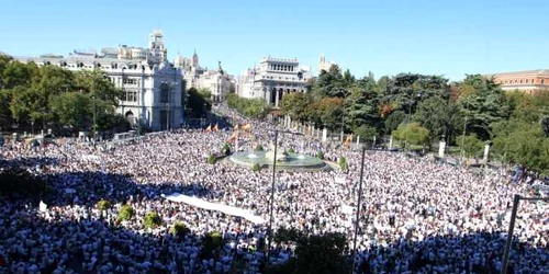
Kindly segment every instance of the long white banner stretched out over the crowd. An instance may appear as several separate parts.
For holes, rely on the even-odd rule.
[[[179,193],[172,193],[169,195],[161,194],[161,196],[165,197],[166,199],[169,199],[172,202],[186,203],[188,205],[192,205],[192,206],[200,207],[203,209],[217,210],[217,212],[222,212],[222,213],[227,214],[227,215],[243,217],[243,218],[245,218],[245,219],[247,219],[256,225],[261,225],[265,222],[264,218],[256,216],[256,215],[253,215],[250,212],[245,210],[243,208],[210,203],[208,201],[203,201],[203,199],[195,198],[192,196],[187,196],[187,195],[179,194]]]

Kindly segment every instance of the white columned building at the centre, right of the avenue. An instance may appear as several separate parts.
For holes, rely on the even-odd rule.
[[[312,78],[311,68],[300,66],[296,58],[265,57],[258,67],[245,70],[237,81],[237,93],[243,98],[262,98],[278,107],[282,96],[290,92],[305,92]]]

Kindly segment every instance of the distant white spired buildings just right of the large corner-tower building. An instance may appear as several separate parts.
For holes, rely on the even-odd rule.
[[[206,89],[212,93],[213,102],[224,101],[233,89],[233,77],[222,69],[221,61],[216,70],[202,68],[197,50],[194,50],[192,58],[178,55],[173,64],[183,71],[186,89]]]

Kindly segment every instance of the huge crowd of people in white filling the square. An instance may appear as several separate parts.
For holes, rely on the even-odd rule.
[[[242,150],[272,141],[273,126],[253,123],[242,135]],[[29,149],[7,144],[5,164],[40,164],[51,193],[47,208],[31,199],[0,199],[0,273],[260,273],[266,261],[266,224],[205,210],[163,198],[182,193],[250,210],[269,220],[271,171],[222,159],[217,153],[232,128],[216,133],[184,129],[157,134],[117,146],[59,140],[58,146]],[[341,232],[352,249],[361,151],[329,146],[314,138],[282,135],[282,148],[329,160],[345,156],[348,171],[277,173],[273,228],[307,233]],[[44,160],[47,159],[47,162]],[[528,195],[524,183],[509,183],[504,171],[479,176],[462,167],[428,158],[370,150],[366,155],[362,213],[355,258],[356,273],[492,273],[502,267],[513,195]],[[100,210],[107,199],[112,208]],[[120,221],[123,205],[134,216]],[[42,209],[42,210],[40,210]],[[156,228],[144,217],[155,212]],[[515,273],[547,273],[549,207],[520,203],[511,265]],[[176,221],[190,232],[170,233]],[[213,255],[204,255],[204,238],[223,237]],[[268,241],[269,239],[267,239]],[[293,250],[274,242],[269,263],[283,263]]]

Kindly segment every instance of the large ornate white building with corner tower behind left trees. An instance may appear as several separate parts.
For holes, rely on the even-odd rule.
[[[146,49],[123,45],[117,49],[103,48],[101,54],[75,50],[66,58],[47,55],[15,59],[72,71],[101,69],[124,91],[117,113],[134,126],[141,123],[153,130],[166,130],[182,124],[182,72],[168,62],[163,36],[160,30],[154,31]]]

